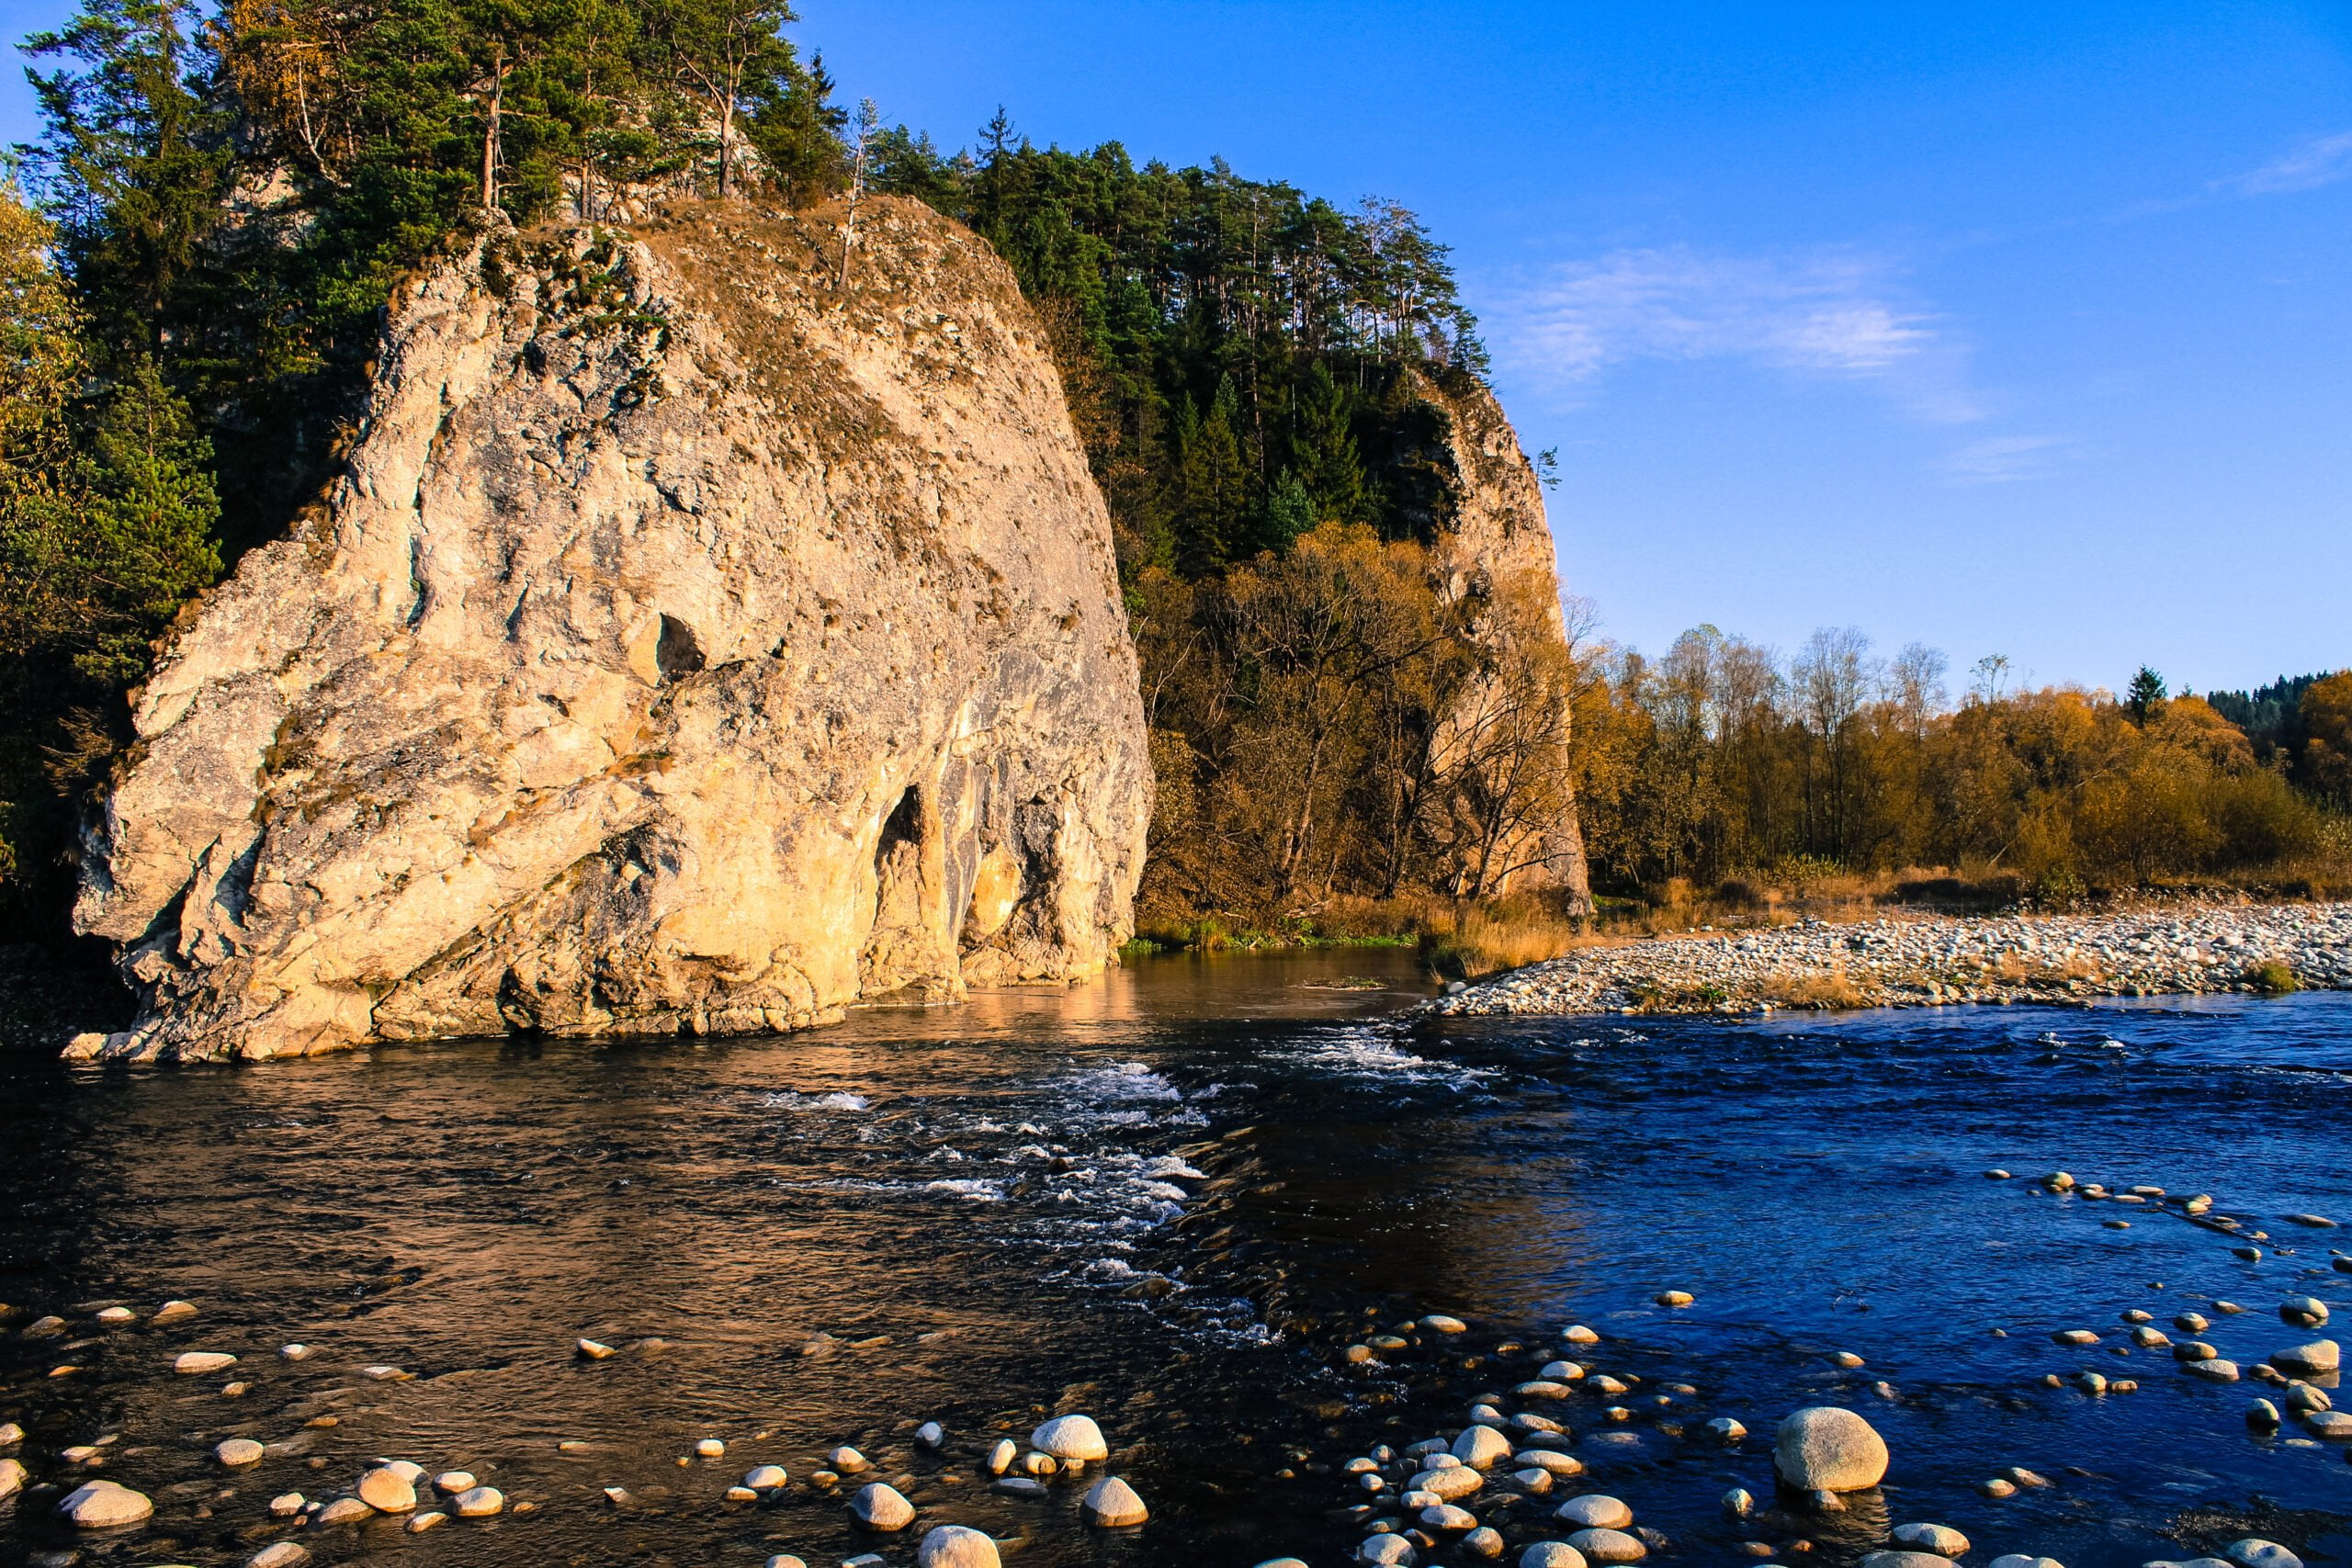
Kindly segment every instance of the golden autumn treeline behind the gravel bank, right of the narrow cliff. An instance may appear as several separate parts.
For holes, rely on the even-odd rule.
[[[2122,698],[2004,691],[2006,661],[1987,658],[1957,705],[1945,672],[1917,644],[1882,661],[1853,630],[1795,658],[1715,628],[1656,661],[1592,651],[1576,757],[1597,884],[1933,865],[2046,898],[2197,879],[2352,891],[2352,670],[2265,689],[2296,693],[2277,731],[2296,741],[2267,750],[2227,717],[2244,698],[2169,698],[2152,670]]]

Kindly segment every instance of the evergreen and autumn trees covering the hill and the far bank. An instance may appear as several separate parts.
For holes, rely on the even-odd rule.
[[[45,134],[0,200],[19,933],[64,933],[155,639],[336,473],[397,282],[485,226],[607,223],[647,193],[844,233],[866,193],[915,197],[1014,268],[1115,522],[1162,802],[1145,905],[1171,931],[1494,898],[1571,792],[1628,898],[1907,865],[2042,896],[2345,884],[2352,677],[1955,703],[1936,656],[1879,663],[1851,632],[1792,658],[1712,628],[1658,661],[1571,649],[1550,583],[1435,569],[1484,348],[1411,212],[1040,148],[1004,113],[948,153],[837,103],[790,21],[85,0],[26,40]]]

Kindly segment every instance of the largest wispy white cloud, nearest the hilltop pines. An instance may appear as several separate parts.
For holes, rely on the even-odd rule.
[[[1886,261],[1853,252],[1623,249],[1555,266],[1489,320],[1505,357],[1562,388],[1632,360],[1755,360],[1884,383],[1933,423],[1983,416],[1962,350],[1905,303]]]

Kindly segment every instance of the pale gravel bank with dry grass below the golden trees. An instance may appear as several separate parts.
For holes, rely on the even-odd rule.
[[[1757,1013],[2352,990],[2352,903],[1806,922],[1583,947],[1437,1013]]]

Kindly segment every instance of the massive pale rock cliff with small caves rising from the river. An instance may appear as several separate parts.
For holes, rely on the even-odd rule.
[[[1110,524],[993,252],[875,202],[499,235],[136,701],[82,1056],[797,1027],[1068,978],[1150,809]]]

